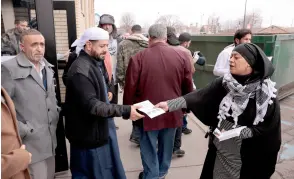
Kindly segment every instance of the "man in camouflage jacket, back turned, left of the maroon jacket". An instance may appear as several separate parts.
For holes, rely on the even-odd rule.
[[[140,25],[134,25],[132,27],[132,34],[119,44],[117,52],[116,80],[122,89],[125,86],[126,71],[131,56],[136,55],[147,47],[148,38],[142,34],[142,28]],[[139,144],[139,140],[140,129],[136,125],[133,125],[130,141]]]

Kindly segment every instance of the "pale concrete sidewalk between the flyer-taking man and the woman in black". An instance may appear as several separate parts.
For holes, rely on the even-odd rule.
[[[191,118],[188,119],[188,122],[193,132],[189,135],[183,135],[182,138],[182,149],[186,151],[186,155],[182,158],[173,158],[171,169],[166,179],[189,178],[191,176],[196,179],[200,176],[207,151],[207,139],[204,138],[204,132]],[[119,130],[117,130],[118,143],[127,178],[137,179],[143,168],[140,149],[129,142],[132,122],[117,118],[116,124],[119,126]],[[70,176],[70,172],[67,171],[57,174],[55,178],[70,179]]]

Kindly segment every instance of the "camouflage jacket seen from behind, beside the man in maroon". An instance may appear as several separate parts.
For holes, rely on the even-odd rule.
[[[116,80],[123,88],[125,76],[131,56],[148,47],[148,38],[142,34],[132,34],[118,46]]]

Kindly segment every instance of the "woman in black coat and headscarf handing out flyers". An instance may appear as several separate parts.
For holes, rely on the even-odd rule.
[[[269,179],[281,146],[280,105],[270,80],[274,68],[257,45],[240,44],[232,52],[230,72],[157,107],[190,109],[211,131],[242,127],[239,136],[224,141],[210,132],[202,179]]]

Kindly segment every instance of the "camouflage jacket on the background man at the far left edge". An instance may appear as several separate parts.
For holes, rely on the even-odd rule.
[[[1,54],[17,55],[20,52],[19,40],[17,29],[9,29],[1,38]]]

